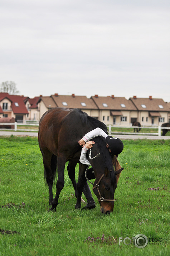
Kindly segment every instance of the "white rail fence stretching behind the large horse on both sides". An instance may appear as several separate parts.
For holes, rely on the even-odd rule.
[[[10,130],[14,130],[14,131],[38,131],[37,129],[18,129],[17,128],[17,122],[15,123],[0,123],[0,125],[14,125],[14,129],[10,129]],[[37,126],[37,124],[19,124],[19,125],[31,125],[31,126]],[[162,126],[115,126],[115,125],[107,125],[108,127],[108,134],[129,134],[129,135],[158,135],[161,136],[161,130],[162,129],[167,129],[170,130],[170,127],[162,127]],[[112,127],[113,128],[141,128],[141,129],[157,129],[158,132],[119,132],[119,131],[112,131]],[[5,129],[5,128],[1,128],[1,130],[8,130],[9,129]]]

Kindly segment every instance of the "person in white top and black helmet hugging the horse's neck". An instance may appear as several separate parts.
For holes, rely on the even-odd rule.
[[[90,141],[90,139],[92,139],[92,137],[96,137],[96,136],[102,136],[106,139],[106,148],[108,149],[108,151],[111,154],[113,165],[115,165],[115,162],[116,162],[116,164],[120,165],[118,163],[117,157],[123,150],[123,142],[116,137],[108,136],[106,134],[106,132],[104,132],[100,128],[96,128],[96,129],[88,132],[86,135],[83,136],[83,138],[81,140],[78,141],[78,144],[80,146],[82,146],[80,162],[82,164],[91,165],[89,163],[89,161],[87,160],[86,153],[87,153],[87,150],[91,149],[93,147],[93,144],[95,144],[95,142]],[[89,180],[95,179],[93,168],[88,169],[87,178]],[[118,176],[118,178],[119,178],[119,176]],[[118,178],[117,178],[117,182],[118,182]],[[87,204],[82,209],[95,208],[96,203],[94,202],[94,199],[92,197],[91,190],[89,188],[87,181],[84,183],[83,194],[85,195],[85,197],[87,199]]]

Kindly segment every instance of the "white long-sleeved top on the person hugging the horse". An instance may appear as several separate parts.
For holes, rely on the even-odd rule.
[[[101,135],[102,137],[106,138],[108,135],[106,134],[106,132],[104,132],[102,129],[100,128],[96,128],[92,131],[89,131],[86,135],[83,136],[83,140],[85,142],[87,142],[89,139],[91,139],[93,136],[97,136],[97,135]],[[86,153],[87,153],[87,148],[84,147],[82,148],[82,152],[81,152],[81,156],[80,156],[80,162],[82,164],[87,164],[87,165],[91,165],[89,163],[89,161],[87,160],[87,156],[86,156]]]

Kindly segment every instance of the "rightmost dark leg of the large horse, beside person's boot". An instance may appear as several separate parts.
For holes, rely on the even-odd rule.
[[[77,203],[75,205],[76,209],[81,208],[81,197],[82,197],[82,192],[84,188],[84,181],[86,180],[85,178],[85,171],[86,171],[87,165],[84,164],[79,164],[79,174],[78,174],[78,182],[77,182]]]

